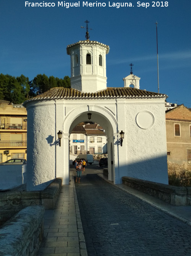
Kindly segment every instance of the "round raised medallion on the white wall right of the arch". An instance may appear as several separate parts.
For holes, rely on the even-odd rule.
[[[142,129],[149,129],[154,124],[154,116],[149,111],[141,111],[136,115],[136,123]]]

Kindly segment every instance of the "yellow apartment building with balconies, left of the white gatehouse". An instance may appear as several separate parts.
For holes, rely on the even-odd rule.
[[[0,100],[0,162],[27,154],[27,111],[22,104]]]

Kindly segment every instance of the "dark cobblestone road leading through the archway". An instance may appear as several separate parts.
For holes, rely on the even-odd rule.
[[[89,256],[190,255],[191,227],[86,169],[76,184]]]

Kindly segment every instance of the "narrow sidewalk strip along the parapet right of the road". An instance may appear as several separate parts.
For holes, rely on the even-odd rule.
[[[183,221],[184,223],[191,226],[191,206],[173,206],[165,201],[162,201],[156,197],[152,197],[151,195],[147,195],[146,193],[143,193],[139,190],[128,187],[126,185],[113,184],[113,182],[109,181],[103,174],[98,175],[107,182],[109,182],[110,184],[114,185],[115,187],[118,187],[121,190],[126,191],[127,193],[144,201],[145,203],[148,203],[149,205],[153,206],[154,208],[157,208],[158,210],[167,213],[173,218]]]

